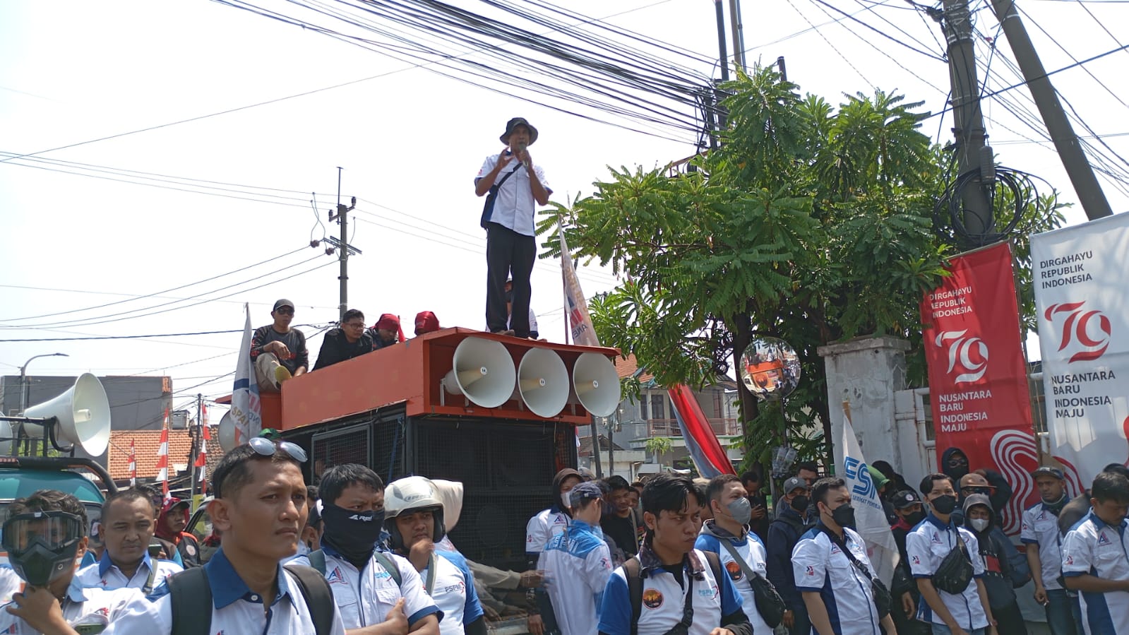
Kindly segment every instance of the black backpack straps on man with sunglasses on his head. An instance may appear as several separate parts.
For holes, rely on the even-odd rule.
[[[336,610],[336,604],[325,577],[307,566],[287,565],[286,569],[298,581],[301,598],[314,620],[314,633],[330,635],[333,632],[333,611]],[[173,603],[172,635],[209,635],[212,597],[208,572],[203,567],[187,568],[168,576],[165,583],[168,584]]]

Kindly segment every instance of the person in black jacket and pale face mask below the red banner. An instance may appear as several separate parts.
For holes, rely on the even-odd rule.
[[[997,621],[996,633],[1026,635],[1015,589],[1031,580],[1027,558],[1019,554],[996,523],[996,512],[988,496],[972,494],[964,499],[964,524],[977,534],[980,557],[984,560],[984,588]]]

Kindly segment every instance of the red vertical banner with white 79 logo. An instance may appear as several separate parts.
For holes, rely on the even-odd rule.
[[[969,469],[1000,472],[1015,493],[1004,530],[1017,533],[1036,493],[1039,466],[1023,357],[1012,246],[1000,243],[952,259],[949,277],[921,303],[929,405],[940,455],[949,447]]]

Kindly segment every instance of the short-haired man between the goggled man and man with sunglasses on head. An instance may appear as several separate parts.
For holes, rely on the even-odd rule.
[[[170,560],[149,553],[155,522],[152,501],[138,489],[122,489],[102,504],[102,539],[105,549],[93,565],[79,569],[82,586],[141,589],[149,594],[166,577],[184,571]]]

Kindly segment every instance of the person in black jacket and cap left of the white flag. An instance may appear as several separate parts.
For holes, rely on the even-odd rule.
[[[796,589],[796,577],[791,568],[791,550],[799,542],[809,527],[804,521],[807,512],[807,484],[799,477],[784,481],[780,489],[781,501],[786,505],[777,506],[777,519],[769,524],[769,536],[764,549],[768,551],[765,562],[769,582],[776,586],[780,598],[787,604],[784,614],[784,625],[791,635],[808,635],[812,623],[807,618],[807,606]]]

